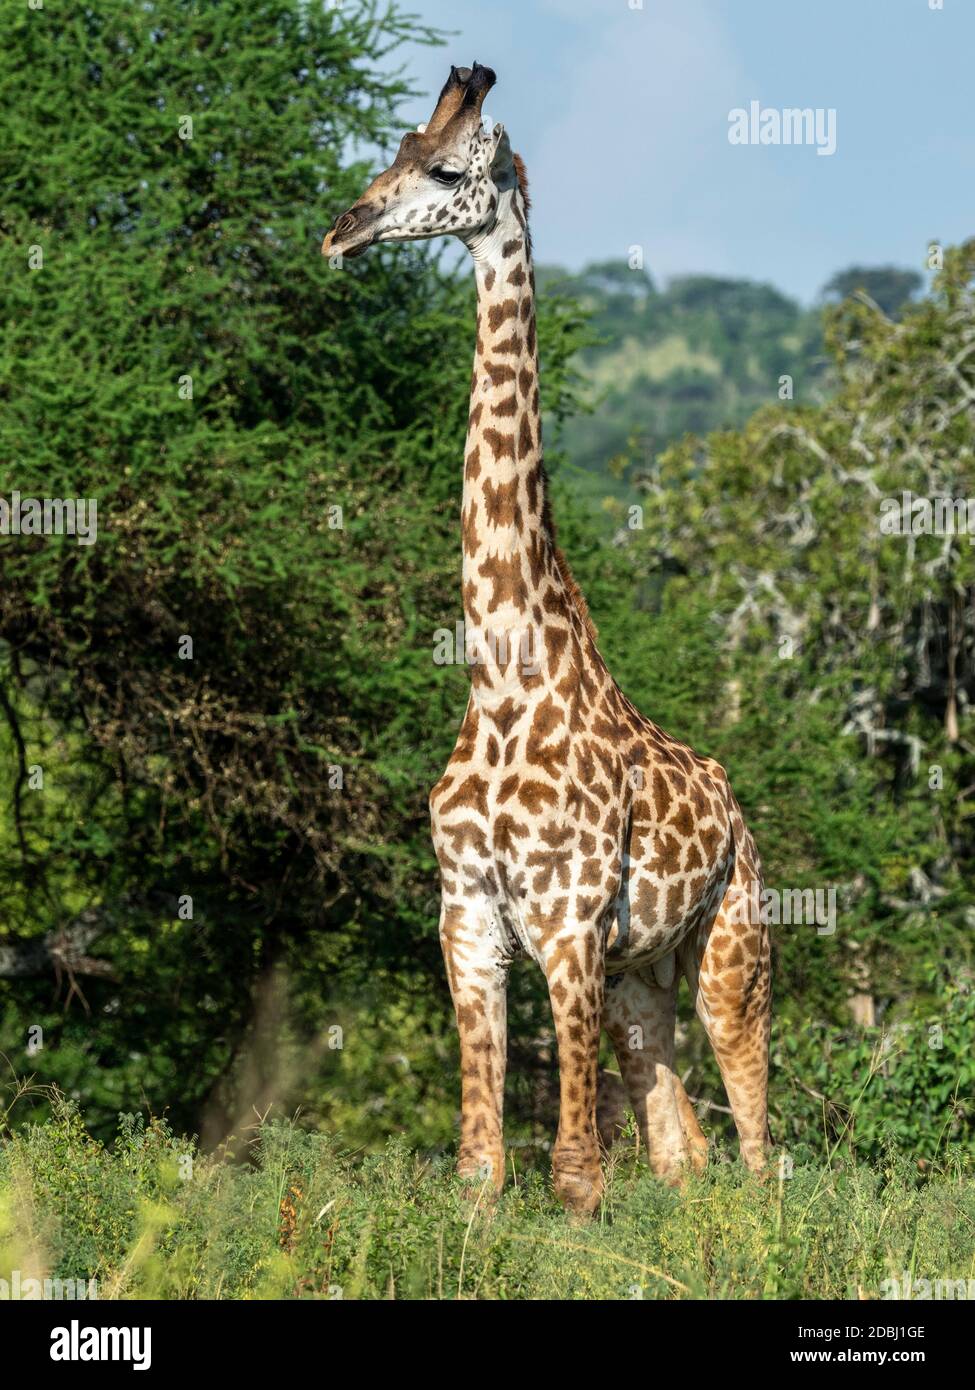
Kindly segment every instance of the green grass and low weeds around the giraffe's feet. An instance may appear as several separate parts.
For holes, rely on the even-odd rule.
[[[110,1148],[51,1097],[0,1144],[0,1277],[99,1280],[102,1298],[880,1298],[975,1277],[971,1155],[918,1172],[833,1158],[757,1183],[716,1155],[680,1191],[626,1147],[599,1216],[569,1222],[544,1172],[465,1202],[448,1159],[392,1140],[355,1158],[287,1122],[193,1155],[124,1116]]]

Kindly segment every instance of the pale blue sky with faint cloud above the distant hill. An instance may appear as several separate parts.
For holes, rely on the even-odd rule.
[[[524,157],[540,261],[644,247],[658,279],[769,281],[809,302],[850,264],[924,268],[975,234],[975,0],[403,0],[426,121],[451,63]],[[836,153],[733,146],[729,111],[833,107]]]

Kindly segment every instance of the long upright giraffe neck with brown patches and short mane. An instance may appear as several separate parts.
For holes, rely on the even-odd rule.
[[[477,348],[465,452],[463,610],[478,699],[531,684],[549,617],[588,631],[552,532],[542,468],[534,271],[522,195],[501,195],[492,231],[472,245]],[[469,648],[470,651],[470,648]]]

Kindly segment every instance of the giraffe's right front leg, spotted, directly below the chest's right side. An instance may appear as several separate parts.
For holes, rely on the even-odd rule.
[[[559,1048],[559,1133],[552,1180],[562,1205],[591,1215],[602,1197],[595,1084],[602,1020],[602,933],[594,924],[547,933],[541,963]]]

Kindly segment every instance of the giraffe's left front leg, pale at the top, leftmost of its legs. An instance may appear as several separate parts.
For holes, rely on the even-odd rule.
[[[440,941],[460,1038],[458,1173],[501,1191],[502,1115],[508,1051],[508,959],[483,916],[444,906]]]

